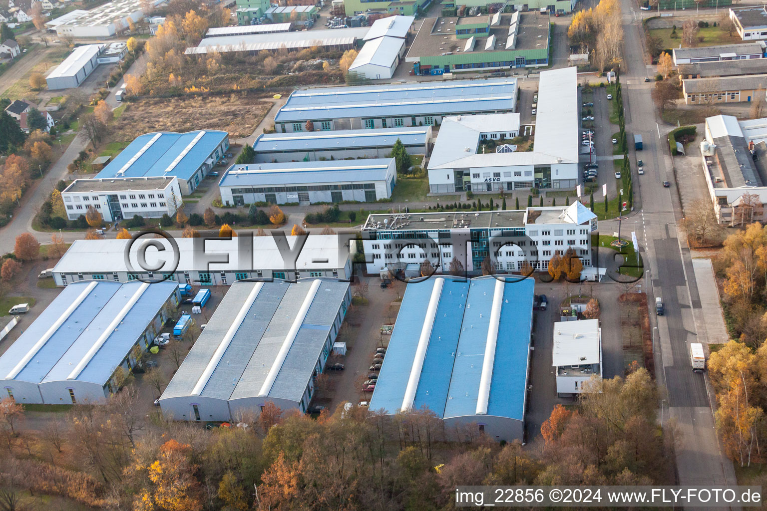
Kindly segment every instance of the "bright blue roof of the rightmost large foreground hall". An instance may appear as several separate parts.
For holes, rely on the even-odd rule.
[[[413,367],[435,279],[407,286],[370,409],[396,413]],[[440,418],[476,414],[496,280],[446,277],[413,408]],[[505,283],[487,414],[524,418],[534,282]],[[468,291],[468,292],[467,292]]]

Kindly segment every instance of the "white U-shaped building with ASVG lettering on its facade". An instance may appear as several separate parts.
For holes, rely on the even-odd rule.
[[[429,162],[430,192],[575,188],[577,82],[576,67],[541,73],[531,151],[509,142],[519,133],[518,114],[446,117]]]

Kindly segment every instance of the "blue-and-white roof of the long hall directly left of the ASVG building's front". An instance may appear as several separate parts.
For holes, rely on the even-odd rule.
[[[393,158],[232,165],[219,186],[384,181],[393,165]]]

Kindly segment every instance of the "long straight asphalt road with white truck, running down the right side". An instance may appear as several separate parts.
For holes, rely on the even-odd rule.
[[[667,154],[666,133],[671,126],[658,126],[651,98],[652,83],[644,77],[653,75],[647,67],[643,53],[640,12],[634,2],[623,2],[624,56],[626,65],[621,74],[624,101],[627,104],[627,131],[640,133],[644,150],[634,152],[645,162],[645,174],[636,175],[635,185],[639,199],[635,201],[641,218],[637,237],[646,251],[646,270],[649,262],[651,276],[650,303],[654,296],[662,296],[666,309],[664,316],[653,316],[656,321],[657,381],[665,388],[662,409],[664,426],[673,418],[682,435],[676,450],[676,465],[680,484],[736,484],[735,473],[723,454],[713,421],[713,394],[707,391],[706,376],[693,373],[689,361],[689,343],[707,342],[699,338],[695,315],[702,313],[700,296],[692,271],[690,251],[680,243],[676,224],[681,218],[680,203],[676,195],[673,167]],[[660,132],[660,133],[659,133]],[[662,137],[662,138],[661,138]],[[663,188],[663,180],[672,188]]]

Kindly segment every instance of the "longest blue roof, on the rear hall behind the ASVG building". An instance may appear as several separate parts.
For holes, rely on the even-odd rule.
[[[291,93],[275,122],[512,111],[515,100],[515,78],[328,87]]]

